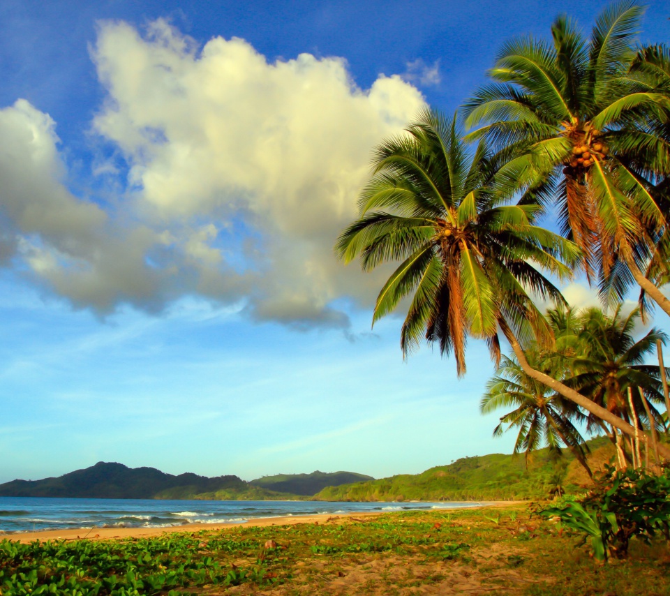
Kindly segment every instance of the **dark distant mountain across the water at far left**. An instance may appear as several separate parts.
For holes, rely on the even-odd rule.
[[[156,468],[128,468],[100,461],[91,468],[57,478],[13,480],[0,484],[0,496],[106,499],[184,499],[198,493],[221,493],[225,499],[286,498],[237,476],[207,478],[186,473],[174,476]]]

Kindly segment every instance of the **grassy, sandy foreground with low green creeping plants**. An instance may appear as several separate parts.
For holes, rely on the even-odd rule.
[[[151,539],[4,540],[0,593],[670,593],[668,544],[634,541],[627,560],[599,565],[577,542],[531,516],[526,506],[394,512],[360,521],[332,518]]]

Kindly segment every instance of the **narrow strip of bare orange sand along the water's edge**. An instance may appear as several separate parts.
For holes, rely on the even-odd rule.
[[[506,505],[518,505],[526,501],[475,501],[477,505],[463,507],[445,507],[445,511],[461,509],[481,509],[482,507],[505,507]],[[295,516],[258,517],[248,521],[232,521],[228,523],[184,523],[181,526],[163,527],[135,527],[135,528],[64,528],[61,530],[36,530],[28,532],[14,532],[13,534],[0,534],[0,540],[28,543],[40,540],[110,540],[124,538],[153,538],[174,532],[201,532],[202,530],[219,531],[225,528],[237,528],[239,526],[295,526],[299,523],[342,523],[350,521],[367,521],[383,514],[396,514],[401,511],[375,511],[375,512],[347,512],[343,514],[310,514]]]

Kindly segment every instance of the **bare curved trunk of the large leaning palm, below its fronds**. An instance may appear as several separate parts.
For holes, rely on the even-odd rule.
[[[512,329],[509,328],[507,322],[502,318],[500,318],[500,320],[498,320],[498,323],[500,325],[502,333],[507,338],[507,341],[509,341],[509,344],[512,345],[514,355],[516,355],[516,359],[519,360],[519,364],[521,365],[523,372],[526,373],[530,378],[533,378],[543,383],[544,385],[549,387],[549,389],[553,389],[556,393],[561,394],[563,397],[576,403],[581,408],[584,408],[584,410],[586,410],[587,412],[590,412],[594,416],[604,420],[605,422],[607,422],[607,424],[615,426],[617,429],[619,429],[623,433],[626,433],[631,438],[635,437],[635,427],[632,426],[632,424],[628,424],[624,419],[613,415],[612,412],[606,410],[606,408],[603,408],[594,401],[591,401],[588,397],[583,396],[582,394],[576,392],[574,389],[567,387],[567,385],[563,385],[562,382],[554,378],[551,378],[549,375],[545,373],[536,371],[535,368],[533,368],[533,366],[530,366],[530,364],[528,364],[526,355],[523,353],[523,348],[521,348],[519,340],[516,339],[514,332],[512,331]],[[645,442],[650,442],[650,438],[646,433],[643,433],[641,438]],[[670,460],[670,447],[666,447],[665,445],[660,444],[658,445],[658,448],[660,454],[665,459]]]

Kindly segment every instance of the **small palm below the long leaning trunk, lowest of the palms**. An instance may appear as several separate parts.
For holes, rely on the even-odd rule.
[[[543,368],[550,374],[556,373],[551,371],[551,367],[546,367],[548,362],[542,362],[537,350],[527,351],[526,355],[535,368]],[[588,445],[572,422],[581,422],[586,417],[572,401],[549,391],[546,385],[524,373],[518,362],[504,356],[496,376],[486,384],[480,408],[483,414],[488,414],[498,408],[509,407],[515,409],[500,418],[493,436],[500,436],[512,427],[518,428],[514,453],[526,452],[526,465],[530,452],[544,445],[557,455],[562,454],[561,447],[565,446],[572,451],[588,476],[593,477],[586,462]]]

